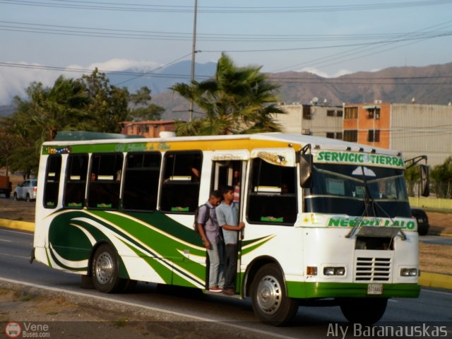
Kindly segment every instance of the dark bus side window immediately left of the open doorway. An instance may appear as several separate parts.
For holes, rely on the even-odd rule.
[[[170,213],[194,213],[198,207],[202,153],[167,152],[160,210]]]

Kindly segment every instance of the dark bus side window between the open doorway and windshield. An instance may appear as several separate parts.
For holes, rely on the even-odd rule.
[[[272,165],[256,158],[251,171],[249,222],[293,225],[297,219],[295,167]]]

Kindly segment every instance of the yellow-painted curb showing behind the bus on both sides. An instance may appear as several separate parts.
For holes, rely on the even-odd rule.
[[[0,227],[35,232],[35,222],[0,219]],[[452,234],[441,234],[441,236],[452,237]],[[422,272],[419,277],[419,284],[423,287],[452,290],[452,275]]]

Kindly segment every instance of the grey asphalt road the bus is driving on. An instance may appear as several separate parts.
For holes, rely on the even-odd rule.
[[[254,328],[280,338],[342,338],[340,333],[330,332],[328,335],[328,329],[333,329],[331,324],[345,322],[339,307],[299,307],[296,318],[289,326],[273,328],[256,321],[249,299],[207,295],[193,289],[162,290],[155,284],[145,283],[138,283],[133,292],[122,295],[105,295],[96,290],[82,290],[78,275],[53,270],[37,262],[30,265],[28,257],[31,248],[32,234],[0,229],[0,280],[6,278],[93,297],[107,297],[198,319],[220,321],[230,326]],[[418,299],[391,299],[386,313],[377,325],[405,326],[405,322],[416,321],[417,326],[422,326],[423,323],[431,325],[429,322],[432,321],[443,322],[448,326],[448,338],[451,338],[451,305],[452,292],[422,289]]]

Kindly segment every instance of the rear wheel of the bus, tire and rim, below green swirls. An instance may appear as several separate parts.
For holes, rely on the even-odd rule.
[[[113,293],[124,287],[126,280],[119,278],[117,254],[108,244],[100,245],[94,254],[91,276],[96,290]]]

